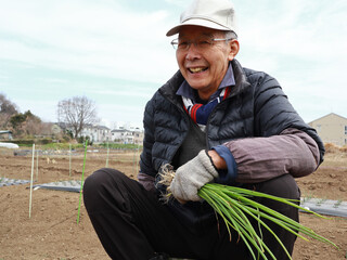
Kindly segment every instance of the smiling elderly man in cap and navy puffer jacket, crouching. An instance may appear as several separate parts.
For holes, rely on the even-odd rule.
[[[250,259],[236,233],[197,195],[218,182],[299,199],[294,178],[313,172],[324,147],[269,75],[241,66],[228,0],[195,0],[167,36],[176,36],[179,72],[149,101],[139,181],[101,169],[85,183],[85,205],[113,259]],[[174,199],[157,173],[170,164]],[[293,207],[261,204],[298,221]],[[269,223],[292,252],[295,235]],[[277,259],[287,259],[268,231],[262,237]]]

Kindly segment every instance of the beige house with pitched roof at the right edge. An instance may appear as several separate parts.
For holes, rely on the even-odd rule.
[[[317,130],[324,143],[347,144],[347,118],[331,113],[308,123]]]

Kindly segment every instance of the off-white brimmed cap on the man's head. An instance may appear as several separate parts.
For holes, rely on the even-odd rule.
[[[196,25],[218,30],[235,31],[234,6],[229,0],[194,0],[181,14],[180,24],[166,36],[172,36],[185,25]]]

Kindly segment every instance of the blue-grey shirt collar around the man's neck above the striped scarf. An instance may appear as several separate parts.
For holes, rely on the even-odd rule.
[[[222,79],[222,81],[220,82],[218,90],[210,96],[210,99],[215,99],[215,95],[219,94],[219,92],[223,89],[227,88],[229,86],[234,86],[235,84],[235,78],[234,78],[234,73],[232,70],[232,66],[231,64],[229,64],[229,67],[227,69],[226,76]],[[188,99],[191,99],[193,101],[195,101],[195,90],[187,82],[187,80],[184,80],[180,88],[177,90],[176,92],[177,95],[182,95],[185,96]]]

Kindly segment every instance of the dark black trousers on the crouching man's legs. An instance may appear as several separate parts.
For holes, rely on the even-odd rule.
[[[247,186],[281,197],[299,198],[296,182],[290,174]],[[156,194],[117,170],[100,169],[88,177],[83,199],[93,227],[112,259],[147,260],[156,252],[190,259],[252,259],[235,232],[230,240],[220,218],[200,226],[198,232],[192,232],[158,200]],[[269,199],[258,202],[298,221],[296,208]],[[268,224],[292,253],[296,236],[275,224]],[[287,259],[273,236],[266,230],[261,232],[277,259]]]

